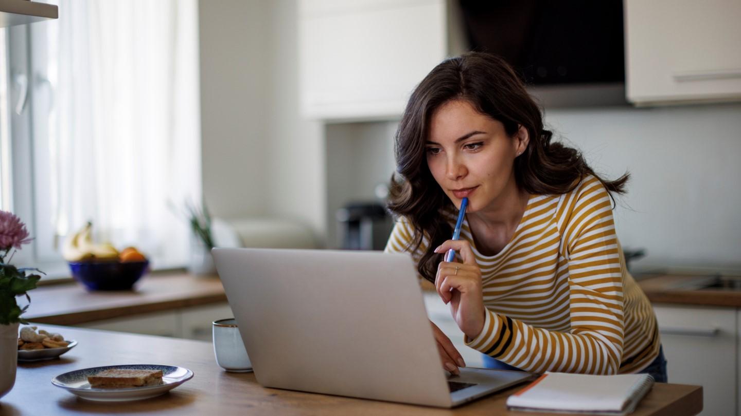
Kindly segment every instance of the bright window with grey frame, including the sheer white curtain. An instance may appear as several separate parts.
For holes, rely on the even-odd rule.
[[[184,265],[187,224],[168,201],[201,189],[196,1],[47,2],[59,19],[7,30],[2,65],[0,191],[35,238],[24,263],[67,274],[64,238],[92,221],[155,268]]]

